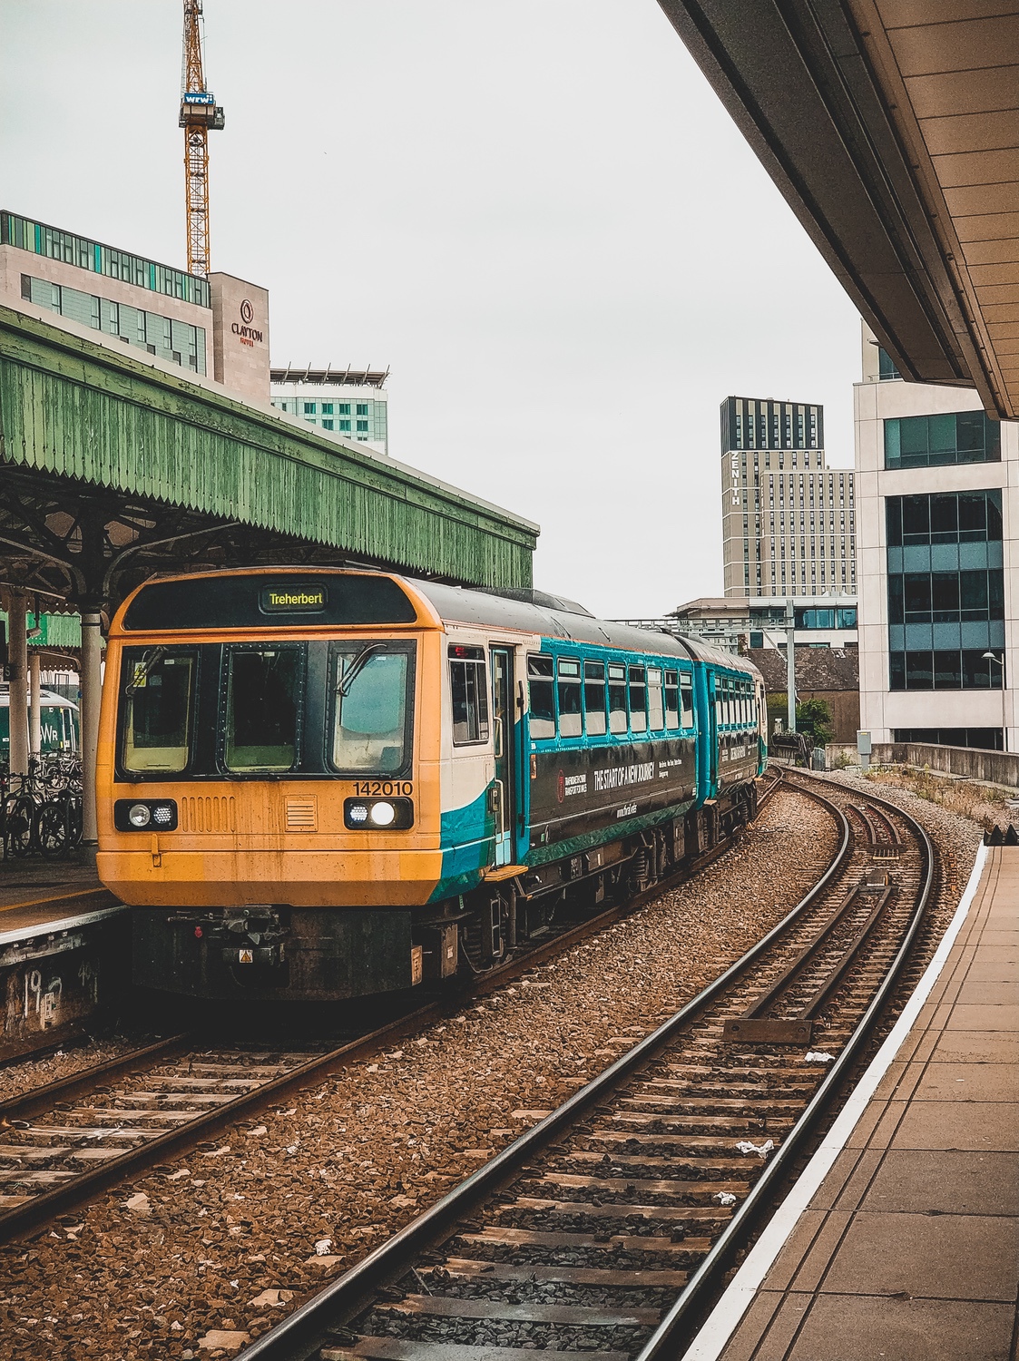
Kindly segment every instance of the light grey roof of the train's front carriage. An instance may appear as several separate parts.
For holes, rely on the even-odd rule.
[[[520,633],[537,633],[546,638],[593,642],[597,646],[620,648],[627,652],[654,652],[667,657],[691,659],[695,655],[691,652],[695,644],[690,640],[676,638],[671,633],[631,629],[624,623],[611,623],[589,614],[551,610],[527,600],[488,595],[484,591],[464,591],[460,587],[439,585],[435,581],[412,581],[411,585],[434,604],[446,623],[476,625],[482,629],[514,629]],[[559,597],[544,596],[544,599]],[[710,648],[706,651],[710,652]],[[739,661],[737,657],[729,660]],[[737,670],[746,668],[740,666]]]

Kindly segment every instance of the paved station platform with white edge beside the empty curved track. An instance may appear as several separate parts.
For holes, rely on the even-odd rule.
[[[684,1361],[1011,1361],[1019,848],[982,847],[931,966]]]

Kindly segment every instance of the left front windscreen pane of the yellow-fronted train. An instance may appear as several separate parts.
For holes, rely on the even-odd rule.
[[[195,652],[128,648],[121,705],[125,770],[176,774],[190,753]]]

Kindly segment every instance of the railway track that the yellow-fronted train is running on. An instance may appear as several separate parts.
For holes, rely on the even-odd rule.
[[[759,807],[774,792],[773,780]],[[320,1083],[580,940],[639,911],[724,855],[735,838],[678,875],[513,958],[475,974],[465,988],[430,998],[377,1029],[328,1045],[215,1044],[177,1034],[0,1102],[0,1241],[64,1213],[146,1168],[184,1153],[219,1130]]]

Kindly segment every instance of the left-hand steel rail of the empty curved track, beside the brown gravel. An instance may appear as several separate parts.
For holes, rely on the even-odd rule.
[[[841,832],[839,847],[829,867],[809,891],[782,920],[774,925],[756,945],[721,973],[702,992],[687,1002],[663,1025],[641,1040],[633,1049],[616,1059],[604,1072],[600,1072],[586,1086],[546,1116],[513,1143],[497,1153],[494,1158],[473,1172],[458,1187],[437,1200],[392,1239],[380,1244],[373,1252],[337,1277],[324,1290],[294,1311],[290,1317],[276,1324],[256,1342],[238,1353],[238,1361],[309,1361],[322,1345],[322,1332],[335,1326],[337,1317],[347,1319],[358,1312],[371,1298],[371,1292],[388,1279],[400,1275],[407,1262],[415,1253],[431,1245],[460,1218],[464,1218],[476,1203],[513,1177],[529,1158],[547,1147],[566,1128],[577,1123],[589,1108],[603,1101],[620,1081],[635,1068],[665,1048],[678,1032],[698,1013],[720,996],[729,984],[746,972],[770,946],[792,927],[824,893],[849,862],[853,837],[849,821],[841,808],[829,804],[814,791],[801,791],[816,799],[833,813],[835,826]]]

